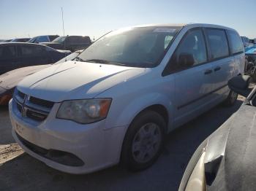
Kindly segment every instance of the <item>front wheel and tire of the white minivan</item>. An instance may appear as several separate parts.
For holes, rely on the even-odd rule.
[[[153,165],[162,151],[166,123],[154,111],[140,113],[127,130],[121,152],[121,163],[131,171]]]

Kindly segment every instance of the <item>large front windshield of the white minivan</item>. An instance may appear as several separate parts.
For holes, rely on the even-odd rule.
[[[78,61],[152,68],[159,64],[180,27],[138,27],[113,31],[91,44]]]

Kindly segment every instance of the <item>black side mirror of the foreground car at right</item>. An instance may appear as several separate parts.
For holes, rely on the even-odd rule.
[[[241,75],[238,77],[233,77],[227,83],[230,90],[233,90],[235,93],[247,97],[251,90],[249,90],[249,81],[250,77],[247,75]]]

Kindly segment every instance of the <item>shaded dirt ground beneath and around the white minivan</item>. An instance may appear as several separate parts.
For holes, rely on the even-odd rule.
[[[0,108],[0,190],[178,190],[182,174],[200,142],[239,108],[217,106],[168,136],[165,151],[146,171],[115,166],[94,174],[64,174],[30,157],[15,144],[7,107]]]

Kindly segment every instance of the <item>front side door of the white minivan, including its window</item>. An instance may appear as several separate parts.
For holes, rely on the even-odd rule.
[[[176,59],[175,121],[181,125],[205,111],[214,100],[214,71],[208,63],[206,41],[201,28],[187,32],[173,54]]]

